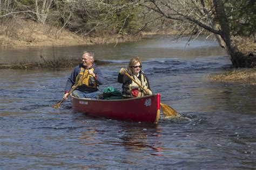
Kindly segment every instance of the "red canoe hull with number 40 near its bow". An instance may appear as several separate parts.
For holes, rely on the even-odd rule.
[[[122,121],[158,123],[160,94],[122,100],[91,100],[71,96],[73,110]]]

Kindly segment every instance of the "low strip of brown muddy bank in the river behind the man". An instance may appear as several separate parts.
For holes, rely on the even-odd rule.
[[[51,59],[42,62],[18,62],[18,63],[0,63],[0,69],[67,69],[77,66],[81,59]],[[107,65],[111,62],[95,60],[96,65]]]

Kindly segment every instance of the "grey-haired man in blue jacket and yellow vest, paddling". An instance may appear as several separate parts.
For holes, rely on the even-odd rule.
[[[100,91],[97,86],[103,84],[104,78],[102,71],[95,65],[94,54],[84,51],[82,54],[82,62],[75,67],[68,81],[66,82],[65,94],[63,100],[69,97],[69,91],[72,86],[79,83],[72,95],[78,98],[97,98]]]

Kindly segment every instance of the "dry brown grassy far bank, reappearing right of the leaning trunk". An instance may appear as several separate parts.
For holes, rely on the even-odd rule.
[[[0,34],[0,48],[112,44],[150,38],[170,37],[170,39],[176,39],[182,37],[180,36],[181,32],[178,30],[82,36],[63,28],[48,24],[42,25],[29,19],[10,20],[7,24],[1,24],[0,29],[2,30]],[[184,35],[190,35],[190,32],[183,32],[182,34],[184,37]],[[205,37],[209,37],[207,35]],[[212,37],[214,38],[214,36]],[[241,49],[242,53],[245,55],[255,55],[256,44],[253,43],[252,38],[233,37],[232,39],[233,43]]]

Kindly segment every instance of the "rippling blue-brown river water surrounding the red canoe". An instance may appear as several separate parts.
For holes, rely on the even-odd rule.
[[[124,44],[1,49],[0,62],[39,55],[80,57],[92,51],[106,86],[118,89],[118,70],[141,56],[153,93],[187,119],[157,125],[116,121],[60,109],[68,70],[1,70],[0,169],[241,169],[256,168],[255,87],[214,82],[231,61],[217,42],[146,40]],[[189,118],[189,119],[188,119]]]

